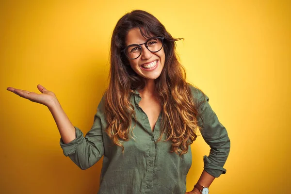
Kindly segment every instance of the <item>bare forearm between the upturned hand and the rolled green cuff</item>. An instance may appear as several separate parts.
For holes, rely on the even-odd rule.
[[[67,144],[76,139],[76,129],[65,114],[59,101],[57,99],[54,100],[48,108],[57,124],[63,142]]]

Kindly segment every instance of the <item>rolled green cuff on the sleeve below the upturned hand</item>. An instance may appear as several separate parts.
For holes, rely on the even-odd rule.
[[[84,140],[84,136],[82,131],[75,127],[76,129],[76,139],[72,140],[71,142],[65,144],[62,140],[60,139],[60,146],[63,149],[63,153],[65,156],[69,156],[70,154],[74,154],[76,152],[77,146],[82,143]]]

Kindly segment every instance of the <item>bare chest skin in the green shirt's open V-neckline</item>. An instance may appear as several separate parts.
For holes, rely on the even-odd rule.
[[[154,131],[156,122],[161,113],[161,105],[159,101],[153,98],[142,98],[142,100],[139,102],[139,107],[141,107],[146,113],[149,125],[152,131]]]

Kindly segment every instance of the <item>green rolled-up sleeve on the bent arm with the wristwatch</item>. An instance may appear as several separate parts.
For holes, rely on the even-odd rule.
[[[230,150],[230,140],[226,128],[219,122],[217,115],[211,109],[209,97],[194,88],[197,108],[201,117],[198,117],[198,125],[202,127],[201,135],[210,146],[209,156],[204,156],[204,170],[213,177],[219,177],[226,173],[223,168]]]

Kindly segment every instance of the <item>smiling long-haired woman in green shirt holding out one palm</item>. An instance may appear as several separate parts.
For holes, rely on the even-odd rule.
[[[65,156],[81,169],[103,156],[98,194],[184,194],[192,164],[190,144],[200,130],[210,154],[204,156],[194,189],[186,194],[208,194],[214,178],[226,173],[230,141],[209,98],[186,82],[176,40],[145,11],[119,19],[111,41],[109,87],[85,137],[53,92],[41,85],[37,88],[42,94],[7,90],[49,108]]]

